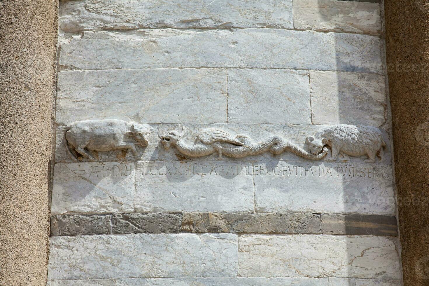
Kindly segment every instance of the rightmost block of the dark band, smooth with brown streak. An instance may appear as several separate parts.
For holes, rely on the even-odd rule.
[[[398,235],[394,216],[321,214],[322,232],[345,235]]]

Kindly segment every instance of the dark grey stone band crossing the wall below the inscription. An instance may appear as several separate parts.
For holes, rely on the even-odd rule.
[[[394,216],[296,213],[73,214],[51,217],[51,236],[130,233],[397,236]]]

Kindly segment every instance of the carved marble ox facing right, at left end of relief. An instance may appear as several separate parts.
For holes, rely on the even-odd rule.
[[[124,120],[83,120],[70,123],[66,127],[66,147],[72,158],[72,151],[81,154],[90,162],[96,159],[88,151],[112,151],[115,149],[133,151],[138,156],[136,145],[130,141],[133,138],[139,145],[147,146],[149,134],[154,129],[146,124],[128,123]]]

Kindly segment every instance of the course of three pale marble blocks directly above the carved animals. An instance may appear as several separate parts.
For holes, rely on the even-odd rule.
[[[226,123],[228,114],[229,123],[311,124],[313,121],[378,127],[387,116],[384,85],[383,75],[352,72],[63,71],[58,73],[55,119],[60,125],[111,118],[152,124]],[[188,113],[189,106],[193,107],[192,113]]]

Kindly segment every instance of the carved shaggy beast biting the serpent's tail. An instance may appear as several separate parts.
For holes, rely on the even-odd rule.
[[[373,126],[335,124],[326,126],[313,136],[308,136],[306,143],[311,154],[319,154],[323,146],[331,148],[332,155],[326,161],[336,161],[338,154],[341,161],[350,160],[349,156],[367,155],[365,163],[375,163],[375,156],[384,161],[386,143],[380,129]]]

